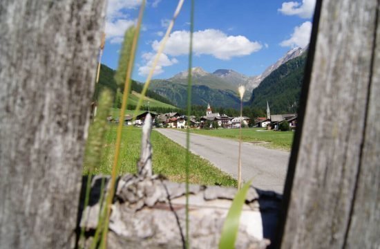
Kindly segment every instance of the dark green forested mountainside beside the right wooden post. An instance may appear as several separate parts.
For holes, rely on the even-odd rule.
[[[296,113],[303,84],[306,54],[289,59],[267,75],[252,91],[250,106],[265,109],[269,102],[272,114]]]

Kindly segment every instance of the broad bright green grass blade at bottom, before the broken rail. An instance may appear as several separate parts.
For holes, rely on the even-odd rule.
[[[236,237],[238,237],[240,215],[245,203],[245,196],[249,190],[251,181],[245,183],[243,188],[238,191],[234,201],[232,201],[231,208],[229,208],[225,224],[222,228],[222,234],[219,241],[219,249],[235,248]]]

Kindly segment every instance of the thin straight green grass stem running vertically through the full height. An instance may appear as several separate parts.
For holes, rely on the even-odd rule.
[[[194,32],[194,0],[191,0],[190,10],[190,45],[189,68],[187,73],[187,133],[186,133],[186,248],[190,248],[189,237],[189,176],[190,176],[190,116],[191,116],[191,68],[193,66],[193,32]]]

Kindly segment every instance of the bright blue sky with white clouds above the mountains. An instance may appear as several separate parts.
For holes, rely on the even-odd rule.
[[[124,31],[135,24],[141,0],[108,0],[102,63],[117,67]],[[178,1],[148,0],[133,79],[144,82]],[[233,69],[258,75],[287,50],[309,42],[315,0],[196,0],[193,66],[212,73]],[[190,1],[184,0],[153,78],[187,70]]]

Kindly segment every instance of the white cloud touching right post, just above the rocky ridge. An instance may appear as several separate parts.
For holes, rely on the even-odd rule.
[[[292,37],[281,42],[281,46],[301,47],[305,48],[310,42],[310,33],[312,32],[312,23],[305,21],[301,26],[294,28]]]

